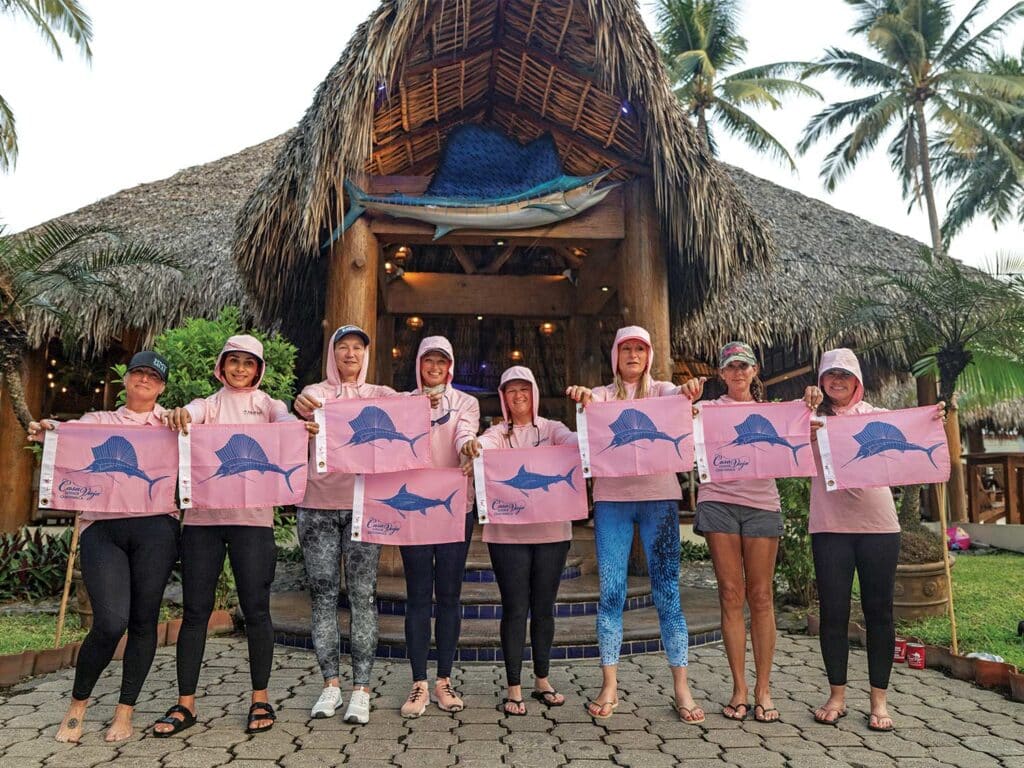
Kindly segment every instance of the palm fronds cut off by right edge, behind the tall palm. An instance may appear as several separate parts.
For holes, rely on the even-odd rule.
[[[1019,58],[993,56],[985,72],[1024,80],[1024,48]],[[942,222],[946,243],[976,216],[988,216],[996,227],[1014,218],[1024,225],[1024,98],[1015,108],[974,110],[972,117],[987,133],[945,132],[933,144],[936,178],[954,187]]]

